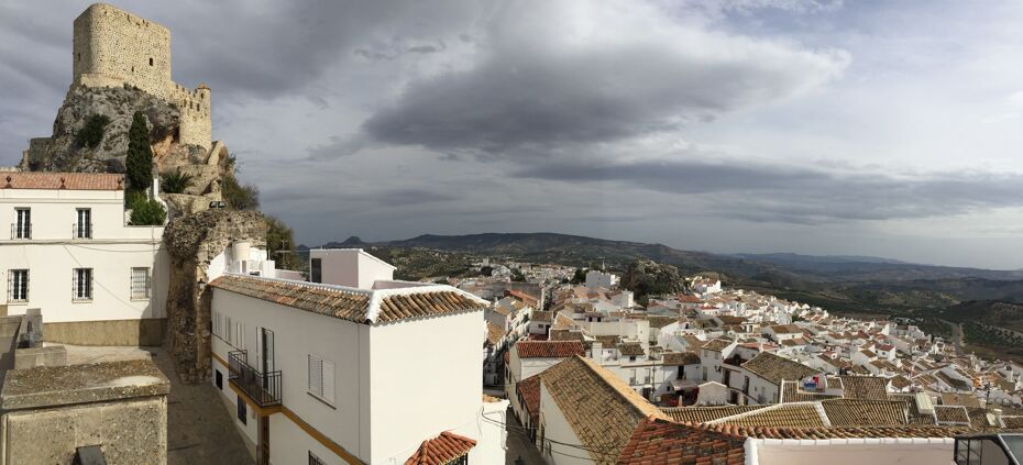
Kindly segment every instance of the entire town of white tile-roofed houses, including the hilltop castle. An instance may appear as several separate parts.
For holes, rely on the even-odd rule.
[[[712,275],[640,303],[561,264],[407,281],[314,248],[278,267],[263,217],[224,206],[215,93],[172,80],[169,36],[89,7],[68,101],[173,108],[169,131],[141,117],[151,170],[193,185],[42,169],[56,133],[0,171],[0,465],[975,464],[1023,429],[1023,365]],[[178,413],[178,389],[212,407]],[[176,455],[197,441],[176,428],[215,420],[241,456]]]

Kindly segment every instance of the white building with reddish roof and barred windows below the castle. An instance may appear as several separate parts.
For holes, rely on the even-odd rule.
[[[40,308],[47,326],[96,322],[162,331],[168,283],[163,226],[131,226],[123,176],[0,173],[0,279],[10,314]],[[120,328],[120,326],[116,326]],[[56,329],[55,329],[56,330]]]

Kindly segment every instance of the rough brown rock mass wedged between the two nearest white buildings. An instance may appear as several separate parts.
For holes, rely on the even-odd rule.
[[[210,262],[234,241],[266,246],[263,214],[257,211],[207,210],[179,217],[164,231],[170,255],[166,344],[178,376],[197,383],[210,376],[210,303],[206,287]]]

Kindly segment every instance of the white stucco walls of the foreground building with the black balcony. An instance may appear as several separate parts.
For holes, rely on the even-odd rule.
[[[215,289],[212,311],[213,318],[228,314],[245,326],[244,346],[212,337],[213,352],[223,359],[245,348],[257,366],[257,328],[274,331],[283,405],[366,463],[404,463],[442,431],[477,441],[473,464],[493,463],[495,451],[503,451],[504,438],[481,418],[482,310],[370,326]],[[332,405],[307,391],[310,353],[334,363]],[[234,397],[230,389],[226,395]],[[504,421],[503,410],[490,416]],[[271,419],[273,463],[305,463],[309,451],[317,453],[319,443],[285,416]],[[331,453],[328,463],[334,458]]]

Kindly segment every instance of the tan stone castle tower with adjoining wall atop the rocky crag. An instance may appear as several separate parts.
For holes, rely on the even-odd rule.
[[[73,86],[133,86],[182,112],[179,142],[212,145],[210,89],[170,77],[170,30],[119,8],[96,3],[75,19]]]

